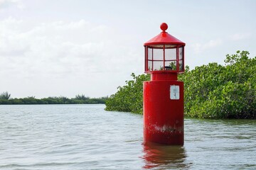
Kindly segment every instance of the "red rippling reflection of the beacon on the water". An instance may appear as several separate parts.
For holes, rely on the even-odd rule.
[[[164,169],[185,169],[186,151],[181,146],[159,145],[153,142],[143,143],[143,152],[145,165],[144,169],[152,169],[154,167]]]

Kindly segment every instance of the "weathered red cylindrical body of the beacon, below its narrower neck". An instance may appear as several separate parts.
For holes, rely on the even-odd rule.
[[[180,98],[171,100],[170,86],[179,86]],[[144,82],[144,141],[183,145],[183,82]]]

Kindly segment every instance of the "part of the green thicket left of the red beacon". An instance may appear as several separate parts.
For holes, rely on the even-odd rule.
[[[124,111],[142,114],[143,81],[150,79],[149,74],[135,76],[132,80],[125,81],[125,86],[119,86],[117,93],[110,96],[106,101],[106,111]]]

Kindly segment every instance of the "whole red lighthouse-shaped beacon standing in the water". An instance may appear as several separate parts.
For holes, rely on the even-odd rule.
[[[174,36],[162,32],[144,43],[145,73],[151,81],[143,85],[144,142],[183,145],[183,81],[177,80],[184,72],[184,47]]]

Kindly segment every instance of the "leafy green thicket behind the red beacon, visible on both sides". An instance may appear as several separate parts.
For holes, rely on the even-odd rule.
[[[226,55],[225,65],[216,62],[186,67],[178,80],[184,82],[184,115],[186,118],[256,119],[256,57],[247,51]],[[117,93],[106,101],[106,111],[142,114],[143,81],[150,74],[136,76],[118,86]]]

